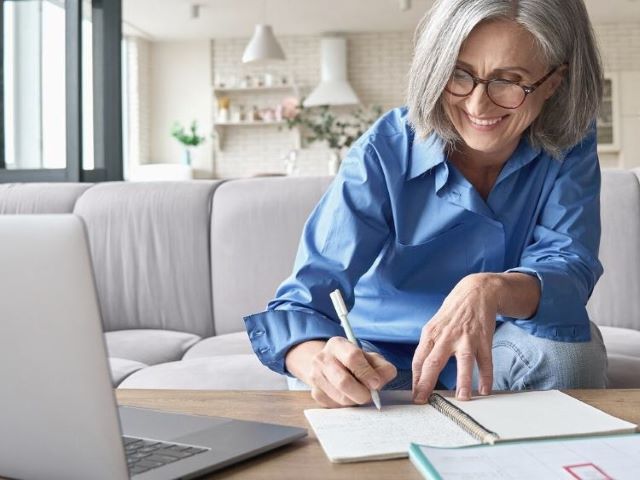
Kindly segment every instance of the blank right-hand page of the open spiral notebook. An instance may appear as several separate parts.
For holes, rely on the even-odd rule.
[[[636,427],[558,390],[447,400],[500,440],[633,432]]]

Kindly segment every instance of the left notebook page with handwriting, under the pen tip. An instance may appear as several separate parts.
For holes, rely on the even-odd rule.
[[[480,443],[430,405],[390,399],[382,396],[380,411],[361,406],[304,414],[329,460],[337,463],[406,457],[411,442],[442,447]]]

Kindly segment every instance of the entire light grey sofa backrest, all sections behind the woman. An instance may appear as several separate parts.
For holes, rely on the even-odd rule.
[[[605,272],[587,306],[599,325],[640,330],[639,176],[603,171]],[[0,184],[0,214],[84,219],[105,330],[208,336],[243,331],[242,317],[266,307],[330,181]]]

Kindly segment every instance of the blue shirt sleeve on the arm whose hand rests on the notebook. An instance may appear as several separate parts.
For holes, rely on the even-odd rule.
[[[514,320],[536,336],[588,341],[586,303],[602,275],[600,166],[593,129],[562,161],[520,266],[507,272],[534,275],[541,297],[533,317]]]

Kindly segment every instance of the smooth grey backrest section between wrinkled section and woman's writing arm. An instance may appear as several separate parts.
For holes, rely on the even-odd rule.
[[[304,223],[332,177],[251,178],[218,188],[211,215],[216,334],[244,330],[291,274]]]

